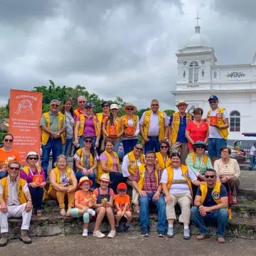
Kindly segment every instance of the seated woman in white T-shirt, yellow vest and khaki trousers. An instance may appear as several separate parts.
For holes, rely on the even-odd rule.
[[[166,218],[168,221],[167,235],[174,237],[174,220],[176,220],[175,206],[181,206],[178,220],[184,225],[184,239],[190,239],[189,223],[191,219],[191,203],[193,201],[192,183],[200,185],[193,171],[181,164],[178,153],[171,154],[171,166],[164,170],[161,176],[161,186],[166,196]]]

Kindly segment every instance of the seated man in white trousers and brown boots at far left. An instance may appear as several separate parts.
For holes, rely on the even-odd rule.
[[[26,244],[32,242],[28,237],[28,229],[33,206],[28,184],[18,176],[20,169],[21,165],[18,161],[12,161],[7,168],[9,176],[0,181],[1,247],[7,245],[9,240],[8,218],[22,217],[20,240]]]

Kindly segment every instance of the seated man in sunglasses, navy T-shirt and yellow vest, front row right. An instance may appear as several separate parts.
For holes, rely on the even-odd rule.
[[[225,227],[228,224],[228,191],[225,186],[217,181],[214,169],[206,169],[206,183],[201,183],[196,193],[194,206],[191,208],[191,218],[200,228],[198,240],[209,238],[206,224],[209,221],[217,222],[217,240],[225,242]]]

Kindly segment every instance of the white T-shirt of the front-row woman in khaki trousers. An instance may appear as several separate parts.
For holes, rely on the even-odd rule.
[[[191,179],[191,181],[196,181],[196,175],[193,173],[193,171],[188,167],[188,177]],[[161,183],[167,183],[168,175],[166,169],[164,169],[163,174],[161,176]],[[171,186],[169,189],[170,195],[178,194],[178,193],[191,193],[188,183],[186,182],[186,179],[184,178],[181,167],[178,169],[174,169],[174,178],[171,182]]]

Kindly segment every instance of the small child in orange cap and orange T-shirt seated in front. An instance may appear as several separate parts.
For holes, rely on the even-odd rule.
[[[114,206],[115,206],[115,220],[116,220],[116,232],[121,233],[119,227],[119,221],[124,216],[127,219],[127,223],[124,225],[123,232],[127,232],[132,222],[132,213],[130,211],[129,205],[129,195],[127,195],[127,185],[126,183],[119,183],[117,186],[117,196],[114,196]]]

